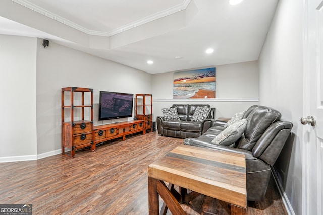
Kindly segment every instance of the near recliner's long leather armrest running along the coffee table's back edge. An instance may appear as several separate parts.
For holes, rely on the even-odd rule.
[[[185,145],[191,145],[191,146],[197,146],[197,147],[203,147],[208,149],[216,149],[226,152],[232,152],[232,153],[239,153],[244,154],[246,156],[246,160],[256,160],[257,158],[252,155],[252,152],[244,149],[238,149],[230,146],[220,145],[220,144],[212,144],[210,141],[203,140],[204,137],[199,138],[186,138],[184,139]]]

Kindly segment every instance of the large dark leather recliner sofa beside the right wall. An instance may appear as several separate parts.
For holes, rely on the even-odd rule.
[[[281,153],[293,124],[280,120],[279,111],[257,105],[251,106],[242,118],[247,118],[247,127],[243,136],[230,146],[211,142],[224,130],[224,123],[217,120],[216,126],[198,138],[184,139],[184,144],[245,154],[247,200],[261,202],[271,177],[270,167]]]

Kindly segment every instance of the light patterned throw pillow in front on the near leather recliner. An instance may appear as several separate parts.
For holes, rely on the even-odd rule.
[[[240,121],[234,122],[219,133],[216,138],[212,140],[212,143],[229,146],[242,136],[246,127],[247,119],[241,119]]]

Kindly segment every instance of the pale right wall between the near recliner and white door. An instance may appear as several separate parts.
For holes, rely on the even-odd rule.
[[[281,0],[259,58],[259,103],[291,121],[293,137],[287,142],[275,169],[284,195],[295,214],[302,213],[303,52],[301,0]]]

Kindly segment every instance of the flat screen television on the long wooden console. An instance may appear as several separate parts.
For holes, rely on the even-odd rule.
[[[133,94],[100,91],[99,120],[132,117]]]

